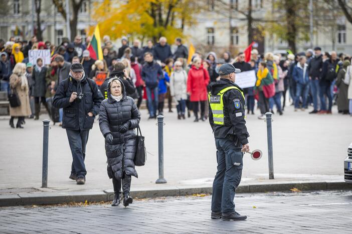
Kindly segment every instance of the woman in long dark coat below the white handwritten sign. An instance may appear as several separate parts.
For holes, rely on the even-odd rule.
[[[43,59],[38,58],[37,63],[34,65],[32,79],[33,79],[33,92],[32,95],[34,96],[34,108],[35,108],[35,116],[34,119],[39,119],[40,113],[40,104],[43,103],[45,108],[49,113],[49,108],[47,101],[45,99],[45,93],[47,91],[47,84],[46,84],[46,75],[47,75],[47,67],[44,65]]]

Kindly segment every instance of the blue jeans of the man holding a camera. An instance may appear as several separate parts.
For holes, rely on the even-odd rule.
[[[87,170],[84,165],[84,158],[86,157],[86,145],[89,136],[89,129],[87,130],[72,130],[66,129],[72,152],[72,166],[71,174],[76,177],[86,177]]]

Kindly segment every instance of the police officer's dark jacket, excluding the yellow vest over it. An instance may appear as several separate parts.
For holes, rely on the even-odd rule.
[[[229,79],[220,79],[210,84],[210,92],[217,95],[220,90],[236,86],[242,90],[237,84]],[[235,102],[240,101],[240,107],[235,107]],[[213,112],[209,104],[209,123],[214,131],[215,138],[233,138],[237,146],[248,143],[249,134],[247,132],[245,120],[245,100],[241,92],[237,89],[230,89],[223,95],[224,103],[224,125],[214,124]]]

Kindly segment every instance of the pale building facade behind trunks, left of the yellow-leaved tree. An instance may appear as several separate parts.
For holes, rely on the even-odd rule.
[[[36,31],[37,13],[34,0],[0,0],[0,38],[5,41],[11,36],[19,37],[21,40],[29,40]],[[65,8],[65,1],[64,8]],[[67,26],[65,18],[56,9],[52,0],[41,1],[41,28],[43,40],[60,44],[63,37],[67,37]],[[95,22],[91,19],[93,0],[84,0],[79,9],[77,35],[86,38],[86,29]],[[72,12],[72,8],[70,8]]]

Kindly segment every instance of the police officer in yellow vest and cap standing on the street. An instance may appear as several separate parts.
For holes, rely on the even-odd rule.
[[[219,68],[220,80],[210,84],[209,122],[217,148],[218,171],[213,182],[212,218],[244,220],[235,211],[235,190],[240,184],[243,154],[249,151],[245,97],[235,84],[235,73],[241,72],[232,64]]]

